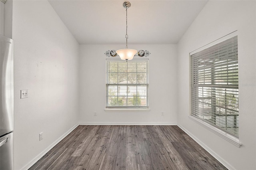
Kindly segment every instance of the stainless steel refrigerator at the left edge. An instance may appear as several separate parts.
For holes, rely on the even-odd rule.
[[[0,170],[14,169],[13,40],[0,35]]]

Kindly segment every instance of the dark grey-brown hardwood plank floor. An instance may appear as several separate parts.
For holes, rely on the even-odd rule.
[[[178,126],[80,125],[30,170],[226,170]]]

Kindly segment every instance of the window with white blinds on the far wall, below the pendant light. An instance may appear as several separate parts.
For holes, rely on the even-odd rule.
[[[106,108],[148,109],[148,59],[107,59]]]

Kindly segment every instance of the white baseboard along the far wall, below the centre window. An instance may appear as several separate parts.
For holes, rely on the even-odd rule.
[[[79,125],[177,125],[176,122],[80,122]]]

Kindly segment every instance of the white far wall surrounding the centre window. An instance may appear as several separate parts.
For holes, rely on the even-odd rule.
[[[106,52],[125,45],[80,45],[80,123],[176,125],[177,46],[129,45],[150,51],[149,112],[105,112]],[[114,58],[114,57],[111,57]],[[146,58],[146,57],[145,57]],[[97,116],[94,116],[94,112]],[[164,116],[161,116],[164,112]]]

